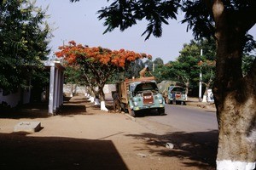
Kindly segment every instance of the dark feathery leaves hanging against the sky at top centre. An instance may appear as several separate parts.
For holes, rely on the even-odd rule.
[[[155,37],[162,35],[162,23],[168,25],[168,19],[176,19],[177,8],[180,6],[179,0],[174,1],[113,1],[109,7],[98,11],[99,19],[105,19],[104,26],[108,26],[106,32],[120,28],[124,31],[126,28],[137,24],[137,20],[148,20],[146,39],[151,34]]]

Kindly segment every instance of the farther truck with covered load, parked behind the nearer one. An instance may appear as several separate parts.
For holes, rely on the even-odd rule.
[[[185,105],[187,99],[186,88],[183,83],[176,81],[162,81],[158,84],[160,93],[166,100],[166,104]]]

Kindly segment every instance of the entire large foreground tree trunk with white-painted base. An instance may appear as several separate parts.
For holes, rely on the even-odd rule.
[[[219,1],[215,1],[219,2]],[[218,116],[218,170],[253,170],[256,160],[256,64],[241,74],[245,32],[230,26],[216,4],[217,65],[214,101]]]

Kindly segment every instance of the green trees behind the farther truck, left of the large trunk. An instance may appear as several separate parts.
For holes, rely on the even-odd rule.
[[[203,75],[203,82],[212,85],[215,70],[215,43],[207,39],[201,41],[190,41],[184,44],[176,61],[170,61],[166,65],[161,65],[155,71],[155,76],[159,82],[172,80],[189,84],[188,88],[197,89],[199,84],[200,71]],[[201,49],[206,51],[201,55]],[[201,65],[200,65],[201,63]]]

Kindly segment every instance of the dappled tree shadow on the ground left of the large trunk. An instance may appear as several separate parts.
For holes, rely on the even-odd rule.
[[[216,168],[216,156],[218,149],[218,131],[197,133],[166,133],[164,135],[156,135],[153,133],[129,134],[135,139],[144,139],[146,144],[157,146],[160,150],[148,150],[148,152],[158,154],[160,156],[177,157],[184,161],[185,167],[198,167],[205,170],[213,170]],[[173,144],[174,147],[168,148],[166,144]]]

